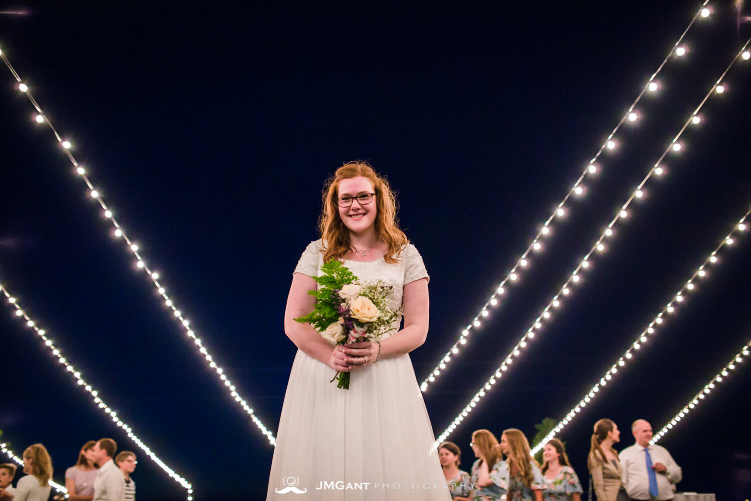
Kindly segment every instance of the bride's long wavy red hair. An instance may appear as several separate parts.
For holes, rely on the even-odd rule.
[[[366,177],[375,188],[375,234],[386,243],[387,249],[384,260],[387,263],[397,263],[397,257],[409,243],[406,234],[397,225],[397,199],[385,177],[376,174],[366,161],[350,161],[330,177],[324,185],[323,210],[318,218],[318,228],[324,243],[324,262],[331,259],[343,259],[351,250],[349,230],[339,217],[339,206],[336,198],[339,194],[339,182],[352,177]]]

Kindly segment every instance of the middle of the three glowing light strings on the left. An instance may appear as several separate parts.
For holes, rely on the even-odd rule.
[[[65,358],[65,356],[62,355],[62,351],[55,345],[53,340],[50,338],[50,336],[47,334],[47,331],[44,329],[41,329],[38,325],[38,323],[34,320],[32,320],[31,317],[29,317],[29,314],[21,308],[20,304],[18,303],[18,300],[11,295],[10,292],[8,292],[8,289],[5,288],[5,285],[0,284],[0,292],[2,294],[5,294],[6,299],[8,300],[8,304],[13,306],[14,308],[14,316],[19,318],[20,320],[26,321],[26,327],[32,328],[35,333],[37,333],[38,337],[41,338],[41,340],[44,341],[44,345],[47,346],[48,349],[50,349],[50,352],[57,358],[57,361],[65,367],[65,370],[68,371],[68,373],[71,373],[71,376],[74,377],[76,380],[76,384],[83,388],[86,393],[91,395],[92,399],[94,400],[94,403],[98,406],[99,409],[102,409],[105,414],[110,416],[110,419],[112,419],[113,423],[117,425],[117,427],[122,428],[122,430],[128,434],[128,438],[133,440],[133,442],[136,443],[136,445],[142,450],[144,453],[146,453],[147,456],[149,456],[155,463],[158,464],[158,466],[164,470],[164,472],[167,472],[167,475],[170,475],[170,478],[173,478],[178,484],[182,485],[182,487],[185,487],[185,489],[188,490],[188,501],[192,501],[193,499],[193,487],[190,484],[189,481],[185,480],[185,478],[182,478],[180,475],[178,475],[173,469],[171,469],[169,466],[167,466],[164,461],[159,459],[156,454],[149,448],[148,445],[143,443],[140,438],[134,433],[133,429],[128,426],[128,424],[125,423],[125,421],[122,421],[122,418],[119,417],[117,412],[115,412],[114,409],[112,409],[110,406],[107,405],[107,403],[104,402],[104,400],[99,397],[99,392],[95,390],[95,388],[89,383],[86,382],[86,379],[83,379],[83,376],[81,376],[80,370],[77,370],[73,364],[71,364],[68,359]]]

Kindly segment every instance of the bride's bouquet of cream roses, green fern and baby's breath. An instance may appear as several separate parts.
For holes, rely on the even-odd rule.
[[[313,311],[295,321],[311,324],[333,345],[379,341],[401,315],[401,309],[388,306],[391,285],[380,280],[360,282],[336,259],[324,264],[321,276],[313,279],[318,282],[318,290],[308,291],[315,296]],[[337,388],[349,389],[349,373],[337,372],[334,379],[339,382]]]

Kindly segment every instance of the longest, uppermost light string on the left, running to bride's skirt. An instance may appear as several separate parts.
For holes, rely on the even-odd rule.
[[[146,276],[148,276],[149,281],[152,282],[155,291],[159,296],[161,296],[161,300],[164,301],[164,306],[167,306],[167,309],[171,311],[172,315],[170,315],[170,317],[173,318],[174,321],[176,321],[179,328],[185,331],[185,336],[195,344],[196,352],[198,352],[198,354],[207,361],[209,367],[211,367],[214,373],[216,373],[216,376],[219,376],[222,385],[225,386],[226,390],[230,394],[231,399],[239,404],[239,406],[250,416],[258,429],[261,430],[261,433],[266,436],[270,444],[276,445],[276,439],[274,438],[273,433],[271,433],[271,431],[264,425],[264,423],[258,418],[258,416],[255,415],[255,412],[253,411],[248,401],[242,395],[240,395],[240,392],[237,391],[234,383],[225,374],[225,370],[219,366],[213,355],[210,354],[205,340],[201,339],[198,333],[196,333],[196,330],[191,326],[187,315],[185,315],[182,310],[178,308],[177,301],[174,299],[174,297],[170,296],[170,294],[167,293],[167,287],[164,285],[164,283],[160,282],[159,273],[149,265],[148,261],[146,261],[145,258],[143,258],[142,250],[140,249],[139,244],[134,242],[131,237],[128,237],[128,234],[125,233],[125,229],[115,218],[115,211],[113,210],[113,207],[108,206],[104,202],[101,191],[95,188],[95,186],[92,184],[92,181],[87,174],[86,168],[78,163],[73,153],[71,152],[71,148],[73,148],[71,140],[62,137],[59,134],[57,129],[53,126],[52,122],[50,122],[50,119],[47,117],[47,115],[44,114],[44,111],[35,100],[31,90],[29,89],[29,86],[23,82],[2,50],[0,50],[0,59],[5,62],[5,65],[8,66],[11,74],[13,74],[14,78],[17,80],[17,89],[20,92],[26,94],[26,97],[29,98],[32,106],[37,111],[37,114],[35,115],[35,121],[40,124],[47,124],[50,130],[53,131],[53,134],[55,135],[59,145],[62,147],[63,152],[65,152],[65,155],[68,156],[71,164],[73,164],[74,172],[78,175],[78,177],[80,177],[81,180],[83,180],[83,183],[86,183],[86,187],[89,190],[89,196],[99,204],[99,207],[101,207],[104,221],[108,221],[112,225],[114,237],[122,240],[122,242],[125,243],[126,251],[130,253],[135,260],[135,270],[143,271],[146,273]]]

